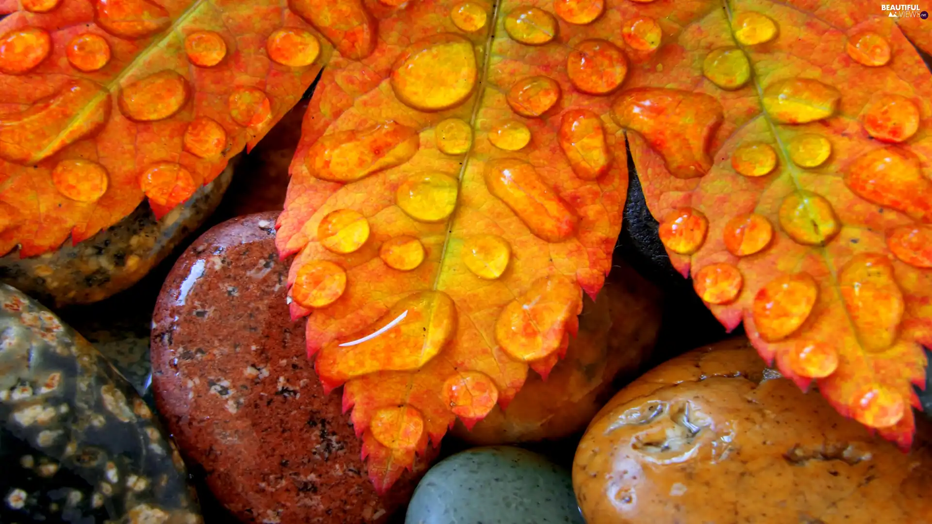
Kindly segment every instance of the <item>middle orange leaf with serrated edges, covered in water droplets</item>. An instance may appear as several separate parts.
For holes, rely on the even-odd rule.
[[[299,253],[293,314],[309,313],[308,353],[327,388],[344,385],[384,490],[575,337],[621,228],[627,157],[609,95],[627,62],[618,43],[586,44],[599,74],[578,46],[590,28],[555,38],[554,15],[514,2],[308,4],[371,19],[377,38],[323,73],[279,249]]]

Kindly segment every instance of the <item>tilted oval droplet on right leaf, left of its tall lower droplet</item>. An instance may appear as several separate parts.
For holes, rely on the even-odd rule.
[[[761,338],[776,342],[789,337],[809,318],[818,297],[818,284],[809,273],[783,275],[754,296],[754,325]]]

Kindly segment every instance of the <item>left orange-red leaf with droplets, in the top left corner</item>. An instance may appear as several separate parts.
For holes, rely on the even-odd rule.
[[[21,10],[17,10],[21,9]],[[188,199],[332,52],[267,0],[0,0],[0,255]]]

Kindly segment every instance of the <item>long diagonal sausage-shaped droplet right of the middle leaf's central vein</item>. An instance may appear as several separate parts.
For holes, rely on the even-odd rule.
[[[486,164],[485,175],[488,192],[538,238],[560,242],[572,236],[578,218],[554,188],[544,184],[534,166],[519,159],[494,159]]]

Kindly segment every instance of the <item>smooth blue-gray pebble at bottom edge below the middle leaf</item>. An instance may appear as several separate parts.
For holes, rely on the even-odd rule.
[[[420,481],[405,524],[584,524],[569,471],[522,448],[473,448]]]

